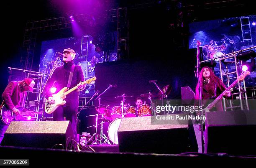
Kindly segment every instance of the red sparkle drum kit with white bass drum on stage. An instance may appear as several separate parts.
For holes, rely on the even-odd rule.
[[[141,94],[141,97],[160,97],[159,94]],[[116,105],[112,108],[109,107],[109,105],[103,105],[100,104],[98,107],[96,107],[97,114],[96,115],[88,115],[87,117],[91,116],[97,116],[97,118],[100,116],[100,118],[96,119],[100,121],[100,124],[96,123],[97,125],[100,125],[100,135],[97,136],[97,133],[93,135],[88,142],[90,144],[87,145],[96,145],[96,144],[115,144],[118,145],[118,128],[120,126],[120,122],[122,118],[124,117],[143,117],[143,116],[151,116],[152,110],[151,106],[146,104],[141,104],[138,107],[133,107],[130,105],[130,103],[125,102],[126,97],[133,97],[133,96],[125,96],[125,94],[115,97],[120,98],[122,97],[122,100],[120,101],[119,105]],[[109,123],[108,126],[108,137],[104,135],[103,133],[103,125],[105,123]],[[90,127],[94,127],[96,125],[92,125]],[[89,127],[87,127],[89,128]],[[91,140],[93,139],[94,140]]]

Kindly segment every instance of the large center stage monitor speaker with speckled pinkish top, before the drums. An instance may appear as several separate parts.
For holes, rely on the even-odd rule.
[[[175,120],[168,122],[168,125],[153,125],[151,116],[122,118],[118,129],[119,151],[166,154],[198,152],[193,125],[188,122],[178,124]]]

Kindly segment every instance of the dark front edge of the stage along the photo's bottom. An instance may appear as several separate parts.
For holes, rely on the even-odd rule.
[[[118,152],[88,152],[71,150],[53,150],[42,148],[14,148],[0,147],[2,159],[29,159],[29,165],[219,165],[225,163],[252,163],[256,158],[237,157],[225,154],[182,153],[146,154],[146,153],[118,153]]]

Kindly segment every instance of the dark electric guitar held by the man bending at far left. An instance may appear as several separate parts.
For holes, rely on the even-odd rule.
[[[16,116],[15,113],[7,107],[6,104],[3,104],[0,106],[1,108],[1,122],[5,125],[10,125],[10,122],[12,121],[25,121],[25,118],[23,115],[36,115],[36,114],[42,114],[42,112],[33,112],[28,111],[24,107],[18,107],[17,109],[20,110],[20,115]]]

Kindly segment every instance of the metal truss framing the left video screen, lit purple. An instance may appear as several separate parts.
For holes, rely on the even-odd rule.
[[[74,15],[77,23],[81,26],[90,25],[91,17],[89,14]],[[128,55],[128,20],[127,20],[127,8],[115,8],[112,10],[104,11],[104,14],[100,18],[95,20],[104,20],[108,23],[117,22],[117,31],[123,36],[118,36],[117,43],[119,46],[118,56],[120,56],[121,50]],[[38,33],[46,31],[55,31],[61,29],[72,28],[71,20],[69,17],[53,18],[47,20],[33,21],[26,23],[23,48],[26,50],[26,55],[22,55],[20,63],[25,70],[31,70],[33,67],[33,57],[35,53],[36,38]],[[120,47],[125,46],[125,47]]]

